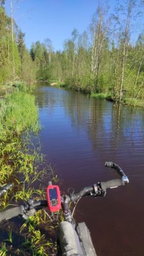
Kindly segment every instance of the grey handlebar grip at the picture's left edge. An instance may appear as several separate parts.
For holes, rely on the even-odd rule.
[[[17,207],[0,212],[0,221],[11,219],[15,216],[18,216],[19,214],[20,215],[24,214],[24,206],[23,205],[19,205]]]

